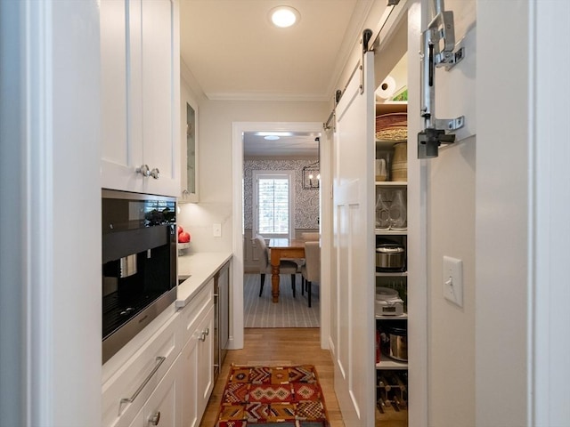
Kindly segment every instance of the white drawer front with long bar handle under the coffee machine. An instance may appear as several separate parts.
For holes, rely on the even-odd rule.
[[[128,425],[182,350],[178,313],[102,385],[102,425]]]

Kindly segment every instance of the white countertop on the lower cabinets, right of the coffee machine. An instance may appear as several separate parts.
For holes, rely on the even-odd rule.
[[[178,285],[176,307],[184,307],[217,270],[232,259],[231,252],[207,252],[178,257],[178,278],[190,276]]]

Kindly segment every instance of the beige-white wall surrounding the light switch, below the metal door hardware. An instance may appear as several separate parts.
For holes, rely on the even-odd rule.
[[[475,26],[475,0],[445,2],[445,10],[454,14],[455,37],[460,40]],[[433,15],[429,15],[433,16]],[[466,61],[473,61],[468,51]],[[461,64],[460,64],[461,65]],[[463,73],[460,65],[436,73],[436,117],[455,110],[474,120],[468,111],[458,111],[462,87],[456,96],[442,96],[443,85],[450,85],[452,74]],[[464,78],[473,81],[465,73]],[[439,89],[439,90],[438,90]],[[452,92],[453,93],[453,92]],[[439,99],[438,99],[439,95]],[[473,102],[473,101],[472,101]],[[441,108],[440,108],[441,107]],[[456,116],[454,116],[456,117]],[[451,118],[451,117],[449,117]],[[422,124],[423,125],[423,124]],[[439,157],[424,160],[428,168],[428,425],[470,427],[475,424],[475,212],[476,212],[476,137],[459,141],[439,150]],[[463,262],[463,307],[444,299],[443,257]]]

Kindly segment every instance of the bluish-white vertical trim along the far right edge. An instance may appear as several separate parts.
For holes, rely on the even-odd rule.
[[[540,7],[539,7],[540,5]],[[567,40],[570,4],[529,2],[528,425],[570,420],[570,132]],[[557,58],[552,61],[551,58]]]

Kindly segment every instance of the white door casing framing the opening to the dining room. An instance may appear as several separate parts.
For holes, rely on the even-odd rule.
[[[231,349],[243,348],[243,133],[264,131],[289,131],[321,133],[321,144],[326,143],[320,122],[232,122],[232,226],[233,226],[233,289]],[[322,175],[323,176],[323,175]],[[323,213],[324,214],[324,213]],[[322,240],[322,246],[329,244]],[[323,269],[322,269],[323,270]],[[330,299],[328,286],[321,286],[321,346],[328,348]],[[326,337],[326,338],[325,338]]]

